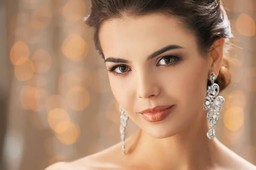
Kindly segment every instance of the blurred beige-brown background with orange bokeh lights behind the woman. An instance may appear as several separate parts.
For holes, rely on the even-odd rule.
[[[235,60],[216,136],[256,164],[256,0],[223,5]],[[0,0],[0,170],[43,170],[120,141],[89,10],[90,0]],[[135,130],[129,121],[126,135]]]

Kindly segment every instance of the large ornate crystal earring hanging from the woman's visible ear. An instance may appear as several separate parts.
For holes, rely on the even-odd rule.
[[[214,72],[209,74],[209,80],[211,81],[212,85],[208,86],[205,97],[205,104],[203,106],[203,109],[208,111],[206,117],[210,120],[210,127],[207,132],[209,139],[214,139],[215,137],[215,130],[212,128],[212,126],[216,125],[218,122],[218,115],[221,111],[221,105],[224,103],[224,97],[216,97],[220,91],[218,84],[214,83],[216,78],[217,77]]]

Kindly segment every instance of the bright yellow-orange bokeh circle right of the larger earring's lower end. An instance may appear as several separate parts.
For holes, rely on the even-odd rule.
[[[244,111],[239,107],[230,108],[224,113],[223,120],[225,127],[236,131],[244,124]]]

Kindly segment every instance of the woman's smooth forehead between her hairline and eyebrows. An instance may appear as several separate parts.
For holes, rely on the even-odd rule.
[[[115,53],[151,52],[166,45],[196,46],[195,37],[177,18],[160,14],[105,22],[99,40],[105,57]]]

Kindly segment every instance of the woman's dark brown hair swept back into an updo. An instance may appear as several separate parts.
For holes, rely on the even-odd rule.
[[[230,22],[220,0],[91,0],[91,13],[85,17],[85,23],[94,28],[95,47],[104,58],[99,42],[99,30],[103,22],[153,13],[177,16],[184,27],[195,34],[198,48],[203,54],[209,52],[215,40],[228,40],[233,37]],[[220,90],[230,83],[228,69],[229,63],[224,57],[216,80]]]

